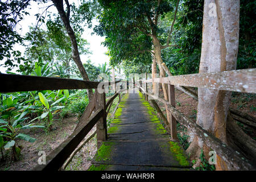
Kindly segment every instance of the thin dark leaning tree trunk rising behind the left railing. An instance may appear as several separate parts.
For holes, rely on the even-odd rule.
[[[60,18],[63,21],[64,26],[68,32],[69,38],[71,39],[73,60],[75,61],[83,80],[89,81],[89,77],[88,77],[88,75],[85,71],[84,65],[82,65],[82,61],[80,59],[75,33],[74,33],[74,31],[70,25],[70,22],[69,22],[69,13],[66,14],[64,11],[63,0],[52,0],[52,2],[54,3],[54,5],[60,15]],[[67,6],[69,6],[69,5],[67,5]],[[88,97],[90,100],[90,98],[92,98],[92,95],[93,95],[92,89],[87,89],[87,93],[88,93]]]

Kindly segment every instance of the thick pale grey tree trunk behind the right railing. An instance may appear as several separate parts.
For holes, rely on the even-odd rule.
[[[205,0],[203,41],[199,73],[222,72],[236,69],[239,38],[240,1]],[[226,142],[226,117],[231,93],[223,90],[198,89],[197,124]],[[199,146],[199,147],[198,147]],[[188,148],[209,148],[195,137]],[[197,153],[198,152],[194,152]],[[217,156],[217,170],[226,164]]]

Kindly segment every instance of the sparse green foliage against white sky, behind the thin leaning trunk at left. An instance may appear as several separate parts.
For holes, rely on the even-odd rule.
[[[49,15],[49,17],[51,17]],[[54,16],[55,17],[55,16]],[[40,28],[30,27],[30,32],[27,32],[24,38],[26,46],[26,61],[19,65],[19,72],[31,73],[35,67],[34,61],[39,65],[49,64],[54,66],[57,75],[60,77],[70,77],[75,74],[77,67],[72,61],[72,46],[71,40],[65,31],[65,28],[59,19],[49,19],[46,23],[47,31]],[[81,34],[76,34],[77,45],[80,54],[85,55],[90,53],[88,42],[81,38]]]

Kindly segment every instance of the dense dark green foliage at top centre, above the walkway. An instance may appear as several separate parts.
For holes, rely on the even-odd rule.
[[[163,1],[160,6],[157,3],[100,1],[104,10],[98,16],[100,24],[94,31],[98,35],[106,36],[104,46],[108,46],[111,65],[118,65],[122,60],[131,60],[135,57],[139,61],[151,60],[152,39],[147,35],[150,32],[147,16],[153,17],[155,11],[163,14],[171,10],[171,5],[167,1]],[[155,31],[159,31],[157,29],[155,27]]]

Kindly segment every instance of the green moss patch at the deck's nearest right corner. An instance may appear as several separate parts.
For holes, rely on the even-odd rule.
[[[175,155],[181,166],[189,166],[188,159],[184,155],[183,149],[179,146],[179,144],[170,141],[170,151]]]

